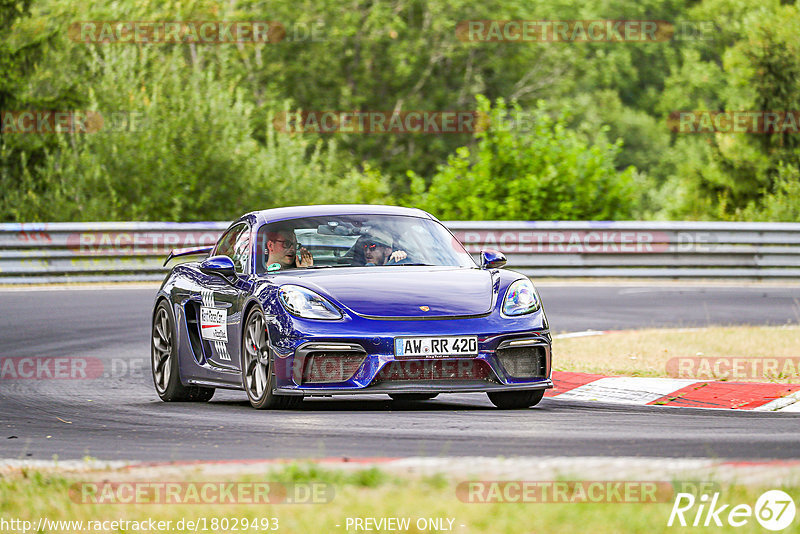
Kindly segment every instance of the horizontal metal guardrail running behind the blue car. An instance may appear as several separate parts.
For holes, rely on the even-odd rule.
[[[445,222],[533,277],[800,279],[800,223]],[[173,248],[213,244],[226,222],[3,223],[0,283],[160,280]]]

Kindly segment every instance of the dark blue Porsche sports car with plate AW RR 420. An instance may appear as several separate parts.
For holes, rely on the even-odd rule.
[[[259,409],[303,397],[426,400],[486,392],[538,403],[550,331],[531,281],[477,265],[435,217],[390,206],[248,213],[182,257],[153,309],[153,382],[164,401],[243,389]]]

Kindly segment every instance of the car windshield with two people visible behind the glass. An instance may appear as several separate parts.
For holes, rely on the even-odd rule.
[[[304,217],[266,224],[258,233],[258,273],[297,268],[475,267],[440,223],[399,215]]]

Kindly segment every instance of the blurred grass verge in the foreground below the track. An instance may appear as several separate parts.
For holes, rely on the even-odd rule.
[[[0,517],[8,520],[30,521],[38,525],[46,517],[50,528],[45,531],[81,532],[194,532],[194,528],[177,528],[181,520],[195,521],[197,531],[214,532],[356,532],[364,531],[348,526],[348,518],[408,518],[409,526],[403,532],[458,532],[458,533],[521,533],[521,532],[596,532],[596,533],[653,533],[682,531],[680,527],[668,527],[674,496],[656,503],[469,503],[457,494],[458,480],[442,476],[428,478],[399,477],[379,469],[342,472],[319,466],[288,465],[269,475],[271,483],[324,483],[333,487],[333,498],[316,504],[98,504],[83,503],[75,496],[76,484],[85,481],[95,483],[118,479],[118,473],[93,473],[79,476],[45,474],[22,471],[0,479]],[[260,478],[260,480],[259,480]],[[239,483],[263,482],[264,477],[238,476],[228,478]],[[171,481],[176,481],[172,477]],[[190,475],[181,479],[192,482]],[[208,481],[208,477],[202,480]],[[117,480],[119,481],[119,480]],[[139,479],[141,482],[141,479]],[[163,482],[163,480],[160,480]],[[753,507],[758,497],[768,489],[743,485],[717,486],[719,503],[747,504]],[[800,495],[798,487],[780,488],[789,495]],[[728,507],[728,510],[732,507]],[[686,513],[694,520],[698,507]],[[726,512],[727,513],[727,512]],[[723,521],[725,514],[722,515]],[[277,519],[277,530],[271,530]],[[214,523],[214,520],[217,520]],[[227,526],[222,520],[227,520]],[[233,528],[236,519],[237,528]],[[268,521],[263,522],[264,519]],[[426,523],[420,528],[420,520],[441,520]],[[705,515],[700,521],[704,521]],[[150,530],[141,525],[113,525],[103,529],[103,522],[170,521],[169,528]],[[247,527],[241,528],[244,520]],[[452,521],[449,521],[452,520]],[[79,521],[79,526],[62,525],[55,528],[53,521]],[[254,523],[255,521],[255,523]],[[797,520],[796,520],[797,521]],[[89,523],[100,522],[100,523]],[[691,523],[689,523],[691,524]],[[712,523],[713,524],[713,523]],[[92,528],[94,526],[101,526]],[[205,525],[205,527],[203,526]],[[212,528],[216,525],[215,528]],[[253,528],[253,526],[256,528]],[[267,528],[264,528],[267,525]],[[108,525],[112,526],[112,525]],[[162,525],[165,526],[165,525]],[[444,527],[444,528],[442,528]],[[691,527],[689,527],[691,530]],[[9,529],[6,529],[9,530]],[[762,532],[754,517],[740,528],[704,528],[704,532]],[[373,529],[372,532],[399,530]],[[787,531],[791,531],[791,528]]]

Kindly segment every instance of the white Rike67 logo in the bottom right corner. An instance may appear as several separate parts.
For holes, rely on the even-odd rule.
[[[794,500],[785,491],[764,492],[756,500],[754,507],[749,504],[732,506],[721,502],[719,496],[719,493],[714,493],[711,497],[704,493],[697,498],[691,493],[678,493],[667,526],[721,527],[727,524],[741,527],[755,517],[763,528],[777,532],[794,521]]]

